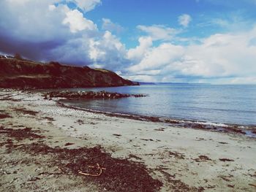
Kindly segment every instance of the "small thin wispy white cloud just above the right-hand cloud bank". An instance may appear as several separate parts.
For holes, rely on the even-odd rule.
[[[143,32],[146,32],[153,40],[170,40],[179,33],[175,28],[169,28],[161,25],[137,26]]]

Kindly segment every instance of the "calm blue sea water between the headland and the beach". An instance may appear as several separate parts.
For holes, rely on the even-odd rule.
[[[256,85],[171,84],[72,90],[148,94],[142,98],[68,101],[89,110],[256,126]]]

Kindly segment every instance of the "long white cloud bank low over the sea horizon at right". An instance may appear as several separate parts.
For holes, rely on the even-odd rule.
[[[252,83],[256,74],[256,44],[252,43],[255,37],[256,26],[236,34],[214,34],[197,45],[162,43],[158,47],[146,47],[143,52],[138,46],[132,52],[143,56],[140,60],[130,57],[137,63],[129,67],[129,72],[139,74],[141,80],[162,82],[178,78],[208,82],[211,78],[213,82]]]

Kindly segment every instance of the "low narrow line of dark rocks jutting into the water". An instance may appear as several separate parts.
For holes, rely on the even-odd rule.
[[[122,93],[110,93],[106,91],[52,91],[48,93],[44,93],[43,95],[45,99],[50,99],[53,97],[61,97],[65,99],[119,99],[124,97],[143,97],[146,96],[144,94],[122,94]]]

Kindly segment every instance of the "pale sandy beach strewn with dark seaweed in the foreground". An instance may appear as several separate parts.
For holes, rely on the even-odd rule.
[[[110,117],[58,100],[0,90],[0,191],[256,191],[255,138]],[[80,163],[83,152],[89,164]]]

